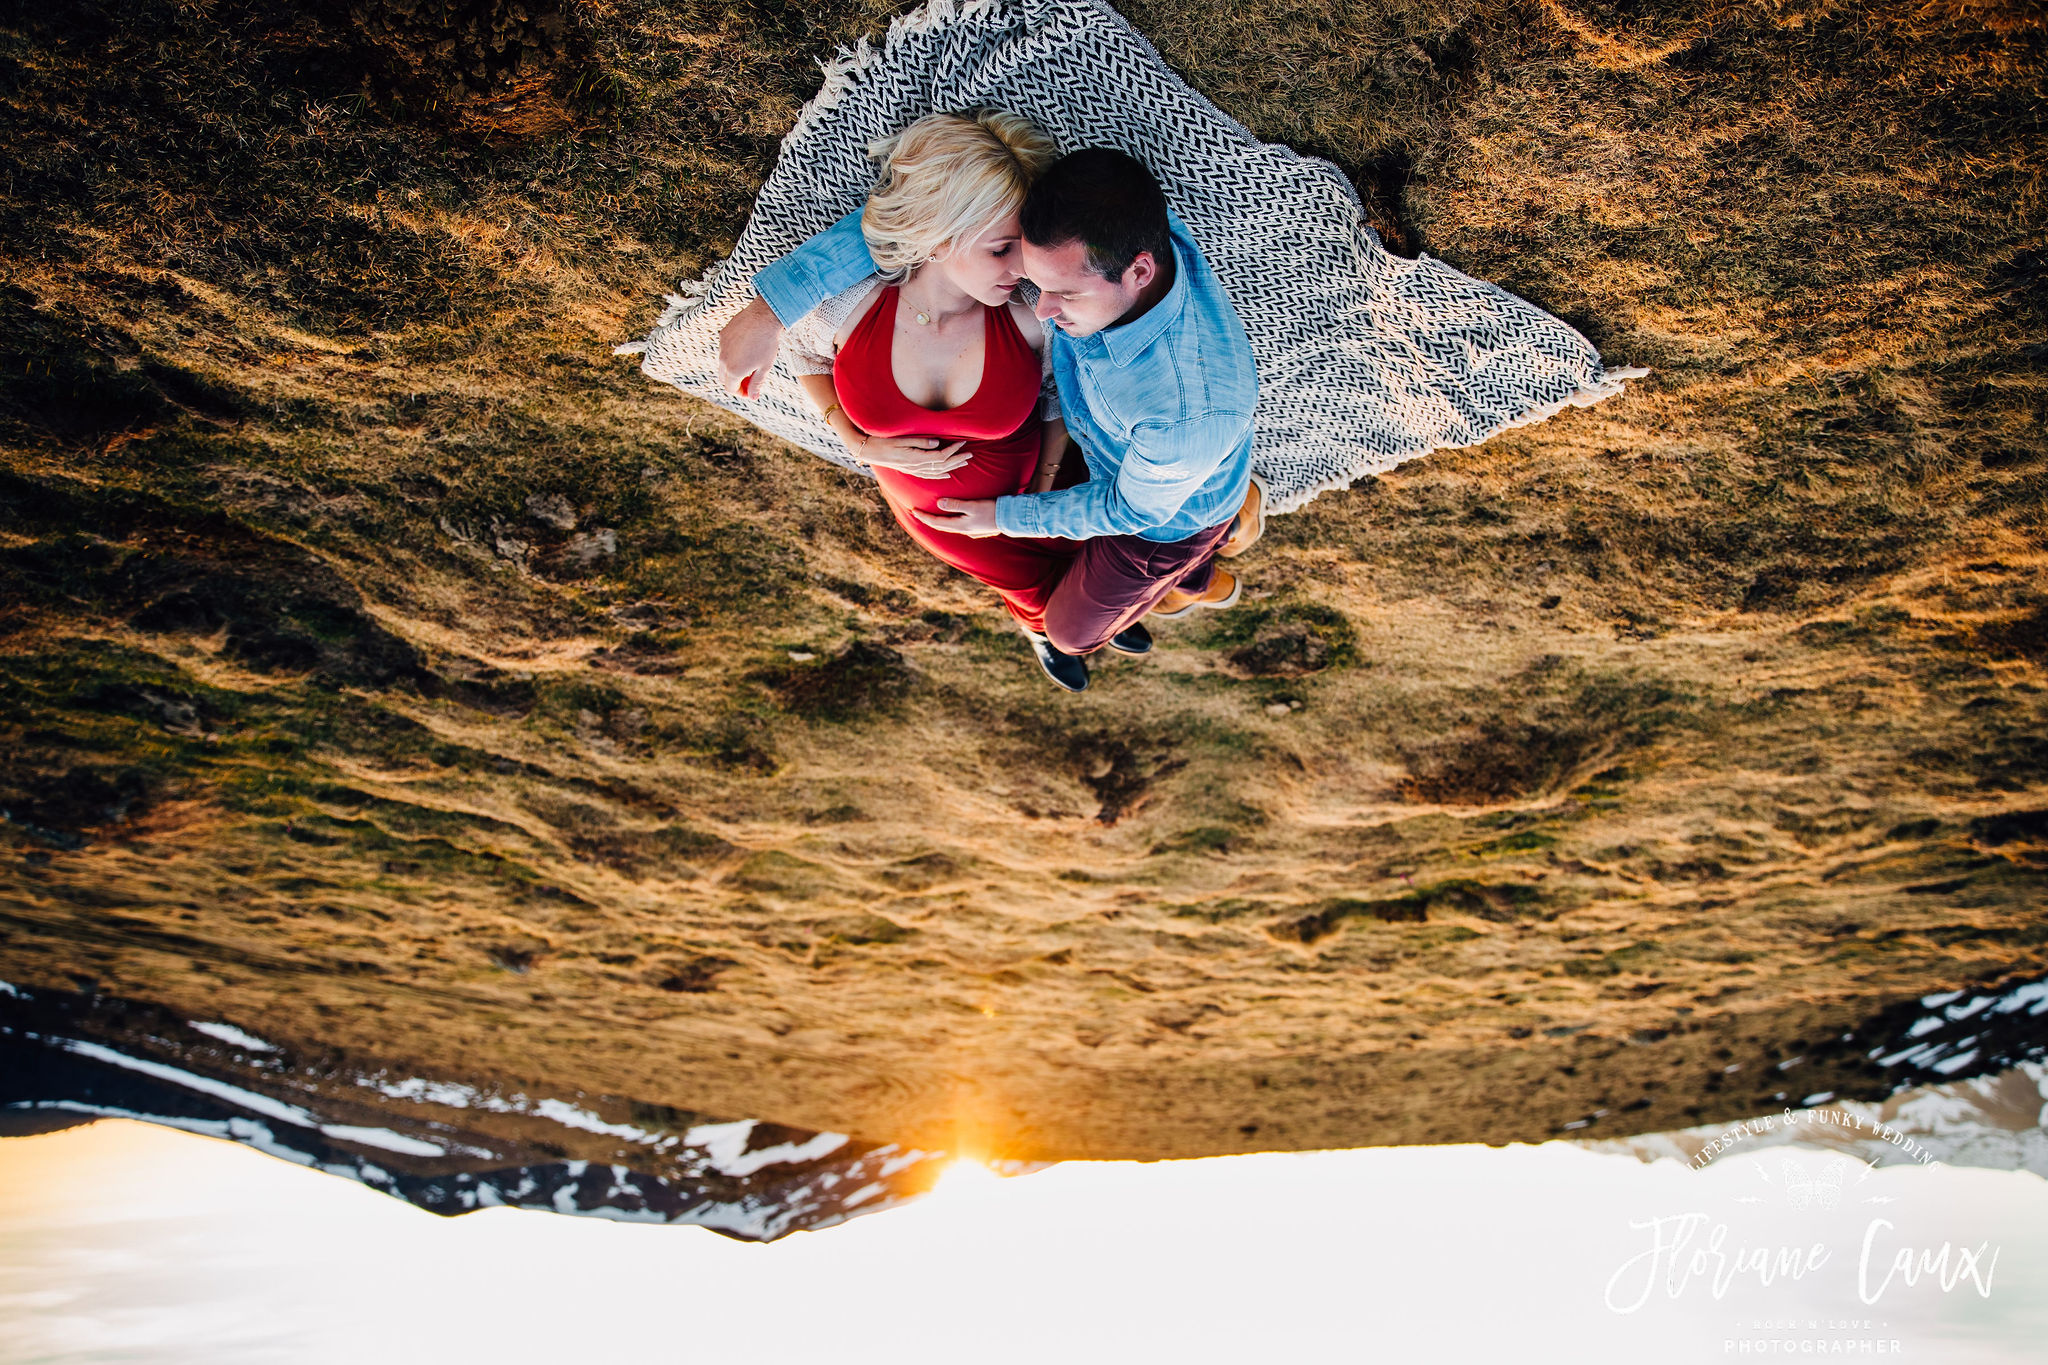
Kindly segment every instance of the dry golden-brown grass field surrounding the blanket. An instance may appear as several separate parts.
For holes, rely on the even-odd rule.
[[[6,974],[1184,1154],[1683,1124],[1772,1101],[1737,1033],[2040,972],[2038,10],[1126,12],[1657,375],[1276,520],[1073,700],[608,356],[887,10],[586,2],[481,74],[395,4],[12,20]]]

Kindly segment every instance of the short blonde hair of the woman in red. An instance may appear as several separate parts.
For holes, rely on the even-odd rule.
[[[883,178],[860,213],[860,235],[883,278],[909,272],[1024,205],[1024,190],[1059,147],[1024,115],[983,108],[926,115],[868,143]]]

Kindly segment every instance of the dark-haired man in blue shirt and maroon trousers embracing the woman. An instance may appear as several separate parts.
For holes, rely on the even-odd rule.
[[[1079,692],[1104,645],[1145,653],[1147,612],[1184,616],[1237,602],[1214,565],[1255,516],[1251,342],[1153,174],[1110,147],[1055,162],[1022,209],[1022,268],[1053,321],[1053,375],[1087,481],[987,501],[940,499],[928,526],[969,536],[1057,536],[1081,551],[1032,636],[1047,675]],[[774,362],[782,325],[872,274],[848,215],[756,276],[760,299],[719,336],[727,389]],[[1241,544],[1247,542],[1241,536]]]

